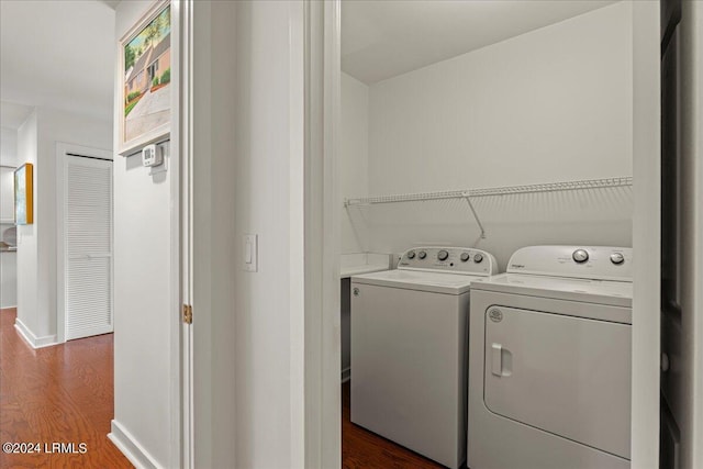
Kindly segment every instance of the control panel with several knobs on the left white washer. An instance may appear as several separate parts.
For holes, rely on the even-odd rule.
[[[408,249],[398,263],[399,269],[445,271],[472,276],[498,273],[490,253],[470,247],[415,247]]]

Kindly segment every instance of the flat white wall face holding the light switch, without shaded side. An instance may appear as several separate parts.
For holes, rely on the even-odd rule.
[[[294,305],[291,283],[303,266],[290,264],[295,239],[291,214],[291,165],[302,159],[291,136],[295,116],[291,100],[295,57],[291,51],[293,10],[300,2],[252,1],[237,3],[235,78],[236,179],[234,246],[245,233],[259,235],[259,271],[234,261],[235,322],[235,464],[234,467],[300,467],[292,459],[294,436],[304,431],[293,417],[293,399],[302,393],[300,364],[293,364],[291,333]],[[300,201],[302,203],[302,201]],[[275,289],[275,290],[272,290]],[[298,426],[300,425],[300,426]],[[224,449],[224,448],[222,448]],[[222,459],[224,460],[224,459]]]

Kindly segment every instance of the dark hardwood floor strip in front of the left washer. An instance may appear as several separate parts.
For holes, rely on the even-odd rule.
[[[444,468],[350,421],[349,382],[342,384],[342,467],[348,469]]]

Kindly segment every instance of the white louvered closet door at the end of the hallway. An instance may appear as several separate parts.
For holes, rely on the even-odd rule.
[[[64,168],[66,339],[110,333],[112,161],[66,155]]]

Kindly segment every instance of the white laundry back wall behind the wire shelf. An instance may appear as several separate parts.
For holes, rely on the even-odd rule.
[[[632,19],[616,3],[370,87],[372,196],[632,176]],[[346,132],[346,131],[345,131]],[[632,190],[354,208],[369,250],[632,245]]]

